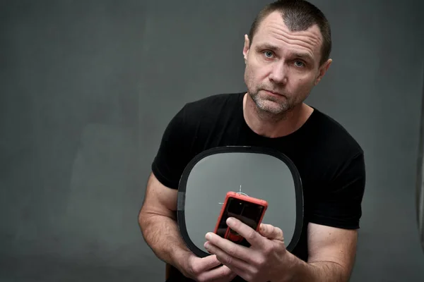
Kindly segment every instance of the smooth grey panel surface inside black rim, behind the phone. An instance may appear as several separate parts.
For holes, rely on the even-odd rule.
[[[225,152],[201,159],[189,174],[185,223],[190,240],[204,249],[228,191],[241,192],[269,204],[263,223],[283,230],[288,245],[295,231],[295,184],[288,166],[268,154]]]

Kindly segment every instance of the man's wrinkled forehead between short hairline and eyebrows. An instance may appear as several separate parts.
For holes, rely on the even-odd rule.
[[[317,25],[307,30],[290,31],[280,12],[273,12],[262,20],[252,41],[254,45],[272,45],[288,53],[308,53],[319,60],[322,35]]]

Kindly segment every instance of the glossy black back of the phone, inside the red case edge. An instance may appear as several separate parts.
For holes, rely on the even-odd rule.
[[[262,211],[264,207],[260,204],[254,204],[252,202],[245,202],[243,200],[235,199],[233,197],[228,198],[225,211],[223,212],[223,217],[220,220],[218,225],[217,234],[224,238],[225,231],[227,231],[227,221],[228,217],[234,217],[239,219],[243,223],[247,224],[254,230],[257,229],[257,223],[261,219]],[[232,231],[232,233],[237,233]],[[245,245],[249,247],[247,240],[243,239],[240,245]]]

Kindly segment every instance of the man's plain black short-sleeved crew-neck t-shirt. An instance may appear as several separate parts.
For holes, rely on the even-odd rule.
[[[365,189],[363,149],[342,125],[315,108],[290,135],[257,135],[243,117],[244,94],[216,94],[187,103],[167,125],[152,171],[163,185],[177,189],[185,166],[206,149],[229,145],[277,149],[293,161],[302,179],[305,217],[292,253],[307,261],[307,223],[359,228]]]

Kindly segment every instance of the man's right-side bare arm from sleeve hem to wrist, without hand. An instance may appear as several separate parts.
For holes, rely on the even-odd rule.
[[[345,282],[355,262],[358,231],[310,223],[308,262],[292,257],[293,280]]]

